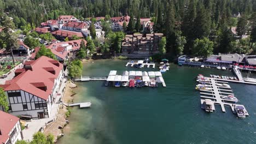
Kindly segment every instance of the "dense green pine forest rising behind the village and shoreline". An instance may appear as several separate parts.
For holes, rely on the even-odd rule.
[[[166,51],[176,55],[256,49],[255,0],[0,0],[0,9],[17,27],[24,20],[39,26],[59,15],[152,17],[154,31],[166,36]],[[238,40],[231,27],[237,27]],[[251,37],[242,39],[246,34]]]

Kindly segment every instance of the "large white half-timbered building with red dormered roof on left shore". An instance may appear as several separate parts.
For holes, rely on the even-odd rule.
[[[15,70],[12,80],[0,85],[8,97],[9,113],[35,119],[48,118],[62,74],[63,65],[49,57],[42,56],[36,61],[25,62],[24,68]]]

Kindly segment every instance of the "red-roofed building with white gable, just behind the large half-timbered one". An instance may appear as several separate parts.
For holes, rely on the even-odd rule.
[[[75,53],[78,52],[80,49],[82,40],[84,41],[84,44],[86,46],[87,41],[84,39],[78,39],[78,40],[71,40],[71,41],[63,41],[60,43],[53,43],[47,46],[47,49],[50,49],[51,52],[54,53],[56,56],[56,59],[60,62],[63,63],[67,59],[71,57],[75,57]],[[88,51],[89,53],[89,51]]]

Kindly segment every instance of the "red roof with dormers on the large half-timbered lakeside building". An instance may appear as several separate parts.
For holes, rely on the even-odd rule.
[[[59,64],[59,67],[56,64]],[[52,93],[54,82],[50,80],[50,78],[56,79],[59,76],[60,71],[63,68],[63,65],[54,59],[49,57],[39,57],[32,64],[32,71],[27,70],[24,73],[16,76],[13,80],[6,81],[5,85],[9,85],[4,87],[4,91],[13,91],[13,90],[23,90],[33,95],[36,95],[39,98],[47,100],[49,95]],[[49,73],[49,71],[45,70],[46,67],[52,67],[55,70],[55,74]],[[44,83],[47,86],[46,91],[39,89],[32,85],[31,83]]]

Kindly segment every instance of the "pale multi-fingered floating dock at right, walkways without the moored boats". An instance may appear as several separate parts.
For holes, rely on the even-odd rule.
[[[219,79],[214,78],[214,77],[205,77],[205,79],[210,79],[210,81],[204,82],[204,83],[211,85],[212,89],[211,90],[200,89],[201,108],[205,109],[205,107],[203,106],[204,99],[211,99],[212,103],[220,105],[223,112],[226,112],[225,106],[230,106],[232,112],[236,113],[235,105],[236,106],[238,106],[238,105],[235,103],[235,101],[229,100],[229,99],[222,99],[222,96],[234,95],[234,93],[230,93],[230,92],[232,92],[232,90],[230,90],[231,88],[217,86],[217,84],[222,84],[222,83],[227,83],[227,82],[219,81]],[[200,82],[200,83],[203,83],[203,82]],[[223,88],[226,88],[226,89],[223,89]],[[223,94],[225,94],[225,95],[223,95]],[[241,106],[243,106],[243,105],[241,105]],[[245,107],[245,106],[243,106],[243,107]],[[213,110],[215,110],[215,107],[213,107]],[[246,111],[246,109],[245,109],[245,111]],[[247,116],[249,115],[248,112],[246,113],[246,115]]]

